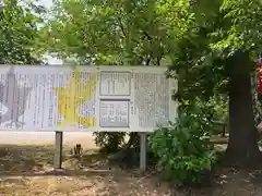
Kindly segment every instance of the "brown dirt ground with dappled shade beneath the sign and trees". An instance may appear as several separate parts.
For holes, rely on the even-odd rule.
[[[39,137],[38,137],[39,138]],[[52,137],[50,137],[52,138]],[[17,139],[17,138],[16,138]],[[23,140],[23,142],[21,142]],[[0,196],[261,196],[261,171],[224,169],[215,183],[205,188],[175,188],[155,175],[136,170],[123,171],[109,166],[96,154],[92,136],[64,139],[63,168],[53,173],[52,140],[33,144],[28,136],[16,144],[0,145]],[[43,139],[45,140],[45,139]],[[11,140],[10,140],[11,143]],[[81,160],[70,156],[70,148],[81,143]]]

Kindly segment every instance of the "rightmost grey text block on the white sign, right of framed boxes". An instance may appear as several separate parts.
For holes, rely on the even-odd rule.
[[[169,119],[169,82],[160,73],[134,74],[134,112],[139,127],[156,123],[167,126]]]

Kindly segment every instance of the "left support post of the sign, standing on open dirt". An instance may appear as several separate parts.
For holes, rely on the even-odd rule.
[[[55,149],[55,160],[53,160],[53,169],[62,168],[62,132],[56,132],[56,149]]]

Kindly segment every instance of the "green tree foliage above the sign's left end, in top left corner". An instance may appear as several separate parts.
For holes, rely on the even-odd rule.
[[[16,0],[5,0],[4,4],[0,10],[0,64],[39,63],[34,50],[44,9]]]

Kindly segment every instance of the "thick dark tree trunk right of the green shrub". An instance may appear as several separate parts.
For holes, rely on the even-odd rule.
[[[252,62],[247,52],[237,52],[228,62],[229,73],[229,143],[228,163],[254,166],[260,157],[258,131],[254,128],[251,77]]]

